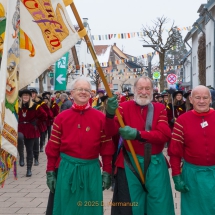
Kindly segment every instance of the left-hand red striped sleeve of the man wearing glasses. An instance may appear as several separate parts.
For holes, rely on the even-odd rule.
[[[47,156],[47,170],[54,171],[57,161],[60,157],[60,146],[61,146],[61,125],[60,118],[56,117],[53,123],[53,129],[51,137],[46,145],[46,156]]]

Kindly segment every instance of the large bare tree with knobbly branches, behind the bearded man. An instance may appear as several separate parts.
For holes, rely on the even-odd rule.
[[[146,44],[157,45],[157,47],[152,47],[156,52],[159,53],[159,61],[160,61],[160,90],[164,90],[164,59],[165,53],[167,50],[170,50],[179,40],[178,30],[174,27],[174,22],[170,30],[168,31],[168,36],[166,41],[163,39],[163,29],[165,29],[165,24],[169,22],[168,18],[162,16],[158,17],[153,22],[153,26],[143,26],[143,37],[142,40]]]

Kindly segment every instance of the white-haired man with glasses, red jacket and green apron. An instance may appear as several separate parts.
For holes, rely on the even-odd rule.
[[[76,79],[71,93],[72,108],[55,118],[46,146],[47,185],[52,193],[55,192],[53,213],[47,214],[102,215],[102,188],[109,189],[111,185],[114,145],[104,133],[105,115],[89,104],[90,82]],[[99,155],[103,164],[102,176]]]

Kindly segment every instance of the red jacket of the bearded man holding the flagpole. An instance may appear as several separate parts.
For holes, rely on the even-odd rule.
[[[171,131],[168,126],[166,110],[163,104],[153,103],[154,117],[152,121],[151,131],[145,131],[145,121],[147,116],[148,106],[141,107],[135,101],[128,101],[120,104],[119,111],[125,125],[136,128],[141,132],[141,137],[152,144],[152,154],[159,154],[162,152],[166,142],[170,140]],[[106,118],[105,129],[107,135],[113,136],[118,133],[119,123],[118,119]],[[136,154],[144,156],[144,144],[138,140],[132,140],[133,148]],[[125,148],[129,150],[126,141],[124,141]],[[123,153],[120,154],[116,161],[116,166],[124,168]]]

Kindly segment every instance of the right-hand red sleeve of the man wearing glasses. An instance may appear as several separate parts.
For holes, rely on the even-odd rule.
[[[112,159],[115,152],[114,143],[111,137],[107,137],[104,133],[101,136],[100,155],[102,157],[103,171],[111,174]]]

